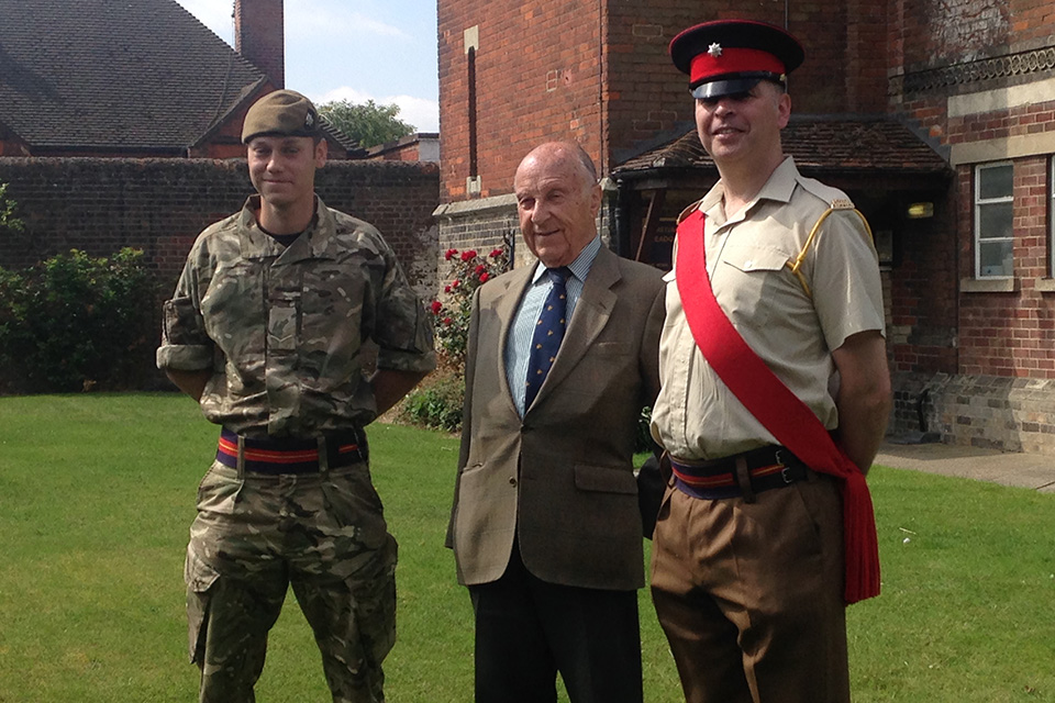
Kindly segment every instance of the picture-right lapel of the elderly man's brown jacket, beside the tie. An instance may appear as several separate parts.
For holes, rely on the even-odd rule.
[[[602,246],[586,277],[582,294],[575,305],[564,342],[557,352],[553,368],[549,369],[549,375],[538,390],[535,403],[548,395],[552,389],[567,378],[601,334],[615,308],[615,293],[612,287],[620,278],[619,257]]]

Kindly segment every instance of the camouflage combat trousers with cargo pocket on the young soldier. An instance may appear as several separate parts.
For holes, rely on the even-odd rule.
[[[369,467],[267,476],[214,462],[198,489],[185,579],[201,703],[252,703],[292,584],[334,703],[381,703],[396,639],[396,540]]]

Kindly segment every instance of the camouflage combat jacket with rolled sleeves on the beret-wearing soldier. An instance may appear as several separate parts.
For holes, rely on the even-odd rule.
[[[209,370],[211,422],[246,436],[311,437],[377,415],[363,343],[377,368],[429,371],[432,321],[370,224],[316,199],[288,248],[256,223],[259,197],[202,232],[164,303],[157,366]]]

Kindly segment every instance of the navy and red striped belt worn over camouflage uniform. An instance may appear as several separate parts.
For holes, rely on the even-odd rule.
[[[366,433],[344,429],[309,439],[240,437],[226,427],[220,431],[216,461],[252,473],[315,473],[366,462]]]

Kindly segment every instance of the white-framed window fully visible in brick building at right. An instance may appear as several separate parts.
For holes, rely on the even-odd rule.
[[[1014,167],[1010,161],[975,167],[975,277],[1014,275]]]

